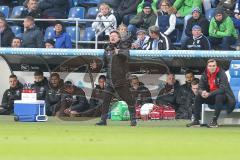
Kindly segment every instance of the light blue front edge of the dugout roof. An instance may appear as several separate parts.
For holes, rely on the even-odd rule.
[[[0,55],[42,55],[42,56],[98,56],[103,49],[46,49],[46,48],[0,48]],[[239,51],[192,51],[192,50],[130,50],[133,57],[149,58],[239,58]]]

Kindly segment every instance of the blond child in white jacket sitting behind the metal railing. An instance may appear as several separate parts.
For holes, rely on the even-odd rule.
[[[116,17],[112,14],[111,8],[108,4],[102,3],[99,7],[99,11],[100,12],[97,14],[96,20],[110,22],[93,22],[92,28],[94,28],[97,33],[101,32],[104,28],[107,28],[105,30],[105,34],[102,37],[103,39],[108,39],[110,31],[117,29],[117,20]]]

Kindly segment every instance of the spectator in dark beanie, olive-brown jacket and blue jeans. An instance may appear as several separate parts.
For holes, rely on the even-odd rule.
[[[128,31],[132,36],[135,36],[135,33],[138,29],[148,30],[150,26],[155,25],[157,16],[153,13],[151,9],[151,4],[146,2],[143,5],[143,11],[139,12],[134,16],[128,25]]]

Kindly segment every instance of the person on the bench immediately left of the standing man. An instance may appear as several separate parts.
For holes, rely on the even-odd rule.
[[[80,113],[82,117],[100,117],[103,103],[103,92],[106,84],[106,76],[100,75],[98,77],[98,85],[92,91],[90,98],[90,109]]]

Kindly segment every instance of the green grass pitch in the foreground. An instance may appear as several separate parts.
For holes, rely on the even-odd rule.
[[[186,128],[188,121],[110,121],[98,119],[14,122],[0,116],[1,160],[237,160],[240,127]]]

